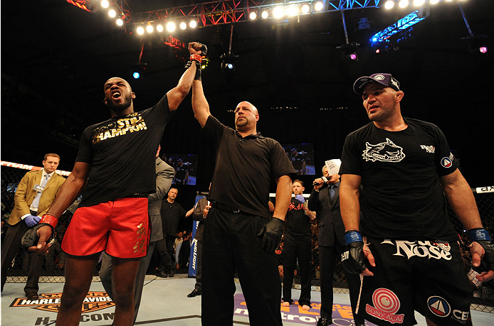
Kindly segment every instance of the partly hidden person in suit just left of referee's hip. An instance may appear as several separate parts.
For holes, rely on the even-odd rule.
[[[211,188],[211,185],[209,186]],[[201,198],[197,204],[196,208],[194,210],[194,213],[192,214],[192,218],[194,221],[199,221],[199,225],[197,226],[196,229],[196,235],[194,236],[194,239],[196,239],[196,246],[197,246],[197,260],[196,260],[196,286],[194,287],[194,290],[192,290],[191,293],[187,295],[189,298],[193,298],[196,295],[201,295],[201,288],[202,288],[202,231],[204,229],[204,220],[208,216],[209,209],[211,208],[211,202],[206,199],[206,197]]]

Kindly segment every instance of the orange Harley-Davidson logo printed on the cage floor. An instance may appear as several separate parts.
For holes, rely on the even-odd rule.
[[[11,307],[30,307],[37,310],[51,311],[58,313],[60,308],[62,293],[41,293],[38,300],[28,300],[27,298],[15,298]],[[93,311],[113,307],[110,296],[106,292],[90,291],[83,300],[82,313],[92,313]]]

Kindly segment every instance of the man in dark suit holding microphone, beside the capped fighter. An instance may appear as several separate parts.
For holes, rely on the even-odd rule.
[[[345,251],[345,225],[340,213],[340,175],[330,173],[326,165],[322,168],[322,178],[314,180],[314,188],[309,197],[309,210],[317,212],[319,218],[319,245],[320,287],[321,287],[321,312],[317,326],[332,324],[332,279],[335,264],[343,251]],[[355,306],[359,295],[360,278],[357,274],[345,274],[348,288],[350,289],[350,302],[354,314],[355,325],[364,325],[362,317],[358,317]]]

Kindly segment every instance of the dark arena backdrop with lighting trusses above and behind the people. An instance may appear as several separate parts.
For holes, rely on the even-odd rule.
[[[409,1],[403,9],[396,2],[388,10],[386,1],[326,0],[321,11],[316,2],[110,1],[108,9],[117,15],[110,18],[99,0],[1,1],[2,221],[27,172],[21,165],[41,166],[44,154],[54,152],[61,156],[58,168],[72,170],[82,131],[110,116],[103,104],[108,78],[130,82],[136,111],[151,107],[177,85],[186,45],[199,41],[209,48],[202,80],[211,114],[233,126],[233,109],[247,100],[258,108],[263,136],[313,146],[315,175],[298,175],[306,194],[325,161],[340,158],[345,136],[368,122],[362,99],[352,91],[354,80],[391,73],[405,93],[402,114],[437,124],[446,134],[492,236],[494,1],[426,0],[421,6]],[[278,6],[301,10],[303,4],[308,13],[272,16]],[[264,9],[266,19],[260,18]],[[258,17],[250,19],[254,12]],[[177,23],[174,31],[167,31],[169,22]],[[164,31],[157,31],[159,24]],[[137,28],[147,26],[152,33],[141,35]],[[382,31],[396,33],[381,41]],[[132,77],[137,70],[139,79]],[[207,192],[214,168],[190,94],[167,125],[161,146],[162,156],[194,157],[187,162],[194,182],[177,185],[177,201],[189,210],[196,194]],[[70,217],[66,212],[62,224]],[[464,239],[453,212],[451,219]],[[181,228],[191,229],[191,221],[181,221]],[[4,232],[2,224],[2,241]],[[313,239],[313,290],[319,290],[317,227]],[[466,241],[463,245],[468,271]],[[26,281],[26,257],[19,252],[7,282]],[[63,282],[60,259],[56,251],[47,256],[42,282]],[[345,292],[340,266],[334,277],[335,291]],[[494,313],[493,281],[472,287],[472,308]]]

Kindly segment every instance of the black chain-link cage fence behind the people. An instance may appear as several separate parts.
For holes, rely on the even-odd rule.
[[[17,189],[19,181],[26,174],[26,170],[20,168],[11,168],[7,166],[1,166],[1,217],[2,217],[2,227],[1,227],[1,244],[3,246],[4,237],[6,233],[6,220],[9,219],[9,214],[14,208],[14,194]],[[480,211],[480,217],[482,217],[483,225],[492,234],[494,230],[494,192],[482,192],[477,193],[473,191],[475,195],[475,200],[478,205],[478,210]],[[494,283],[493,281],[488,281],[484,283],[478,283],[475,281],[475,273],[477,273],[471,266],[470,251],[468,250],[468,243],[466,241],[466,232],[463,229],[461,222],[456,218],[453,211],[449,210],[451,215],[451,220],[453,221],[458,234],[461,235],[462,239],[462,251],[463,257],[466,262],[466,270],[468,271],[468,277],[471,280],[472,290],[473,290],[473,303],[472,308],[475,310],[480,310],[483,312],[494,313]],[[64,262],[65,255],[60,249],[60,243],[63,239],[63,234],[65,233],[65,228],[68,226],[72,213],[65,212],[58,222],[56,228],[56,241],[51,246],[51,250],[43,260],[43,266],[41,271],[40,282],[63,282],[65,278],[64,273]],[[312,290],[320,291],[319,286],[319,248],[317,246],[317,219],[312,221]],[[3,250],[3,248],[2,248]],[[283,242],[280,244],[279,250],[276,251],[278,256],[278,262],[280,266],[283,266]],[[7,271],[7,282],[26,282],[29,261],[31,254],[25,249],[20,249],[14,260],[11,262],[11,266]],[[95,268],[93,281],[100,281],[98,277],[98,272],[100,269],[100,263]],[[281,271],[280,271],[281,276]],[[298,268],[295,271],[293,288],[300,289],[300,277]],[[338,262],[335,266],[335,273],[333,275],[333,291],[335,293],[348,293],[348,286],[345,280],[345,273],[341,263]]]

